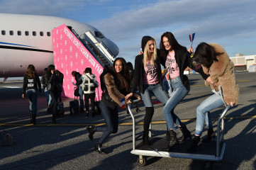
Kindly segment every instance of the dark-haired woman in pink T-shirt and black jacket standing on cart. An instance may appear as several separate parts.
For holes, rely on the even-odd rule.
[[[174,122],[176,122],[174,115],[174,108],[180,101],[189,93],[189,79],[184,75],[184,69],[190,67],[196,72],[199,72],[204,79],[208,76],[204,74],[203,69],[199,64],[194,62],[191,58],[193,53],[193,47],[187,51],[186,47],[179,45],[174,35],[170,32],[163,33],[160,42],[161,51],[161,63],[169,71],[169,77],[172,84],[172,93],[163,108],[165,120],[167,123],[167,139],[169,140],[169,151],[175,146],[179,147],[179,140],[176,136],[176,128]],[[183,123],[182,123],[183,124]],[[187,130],[186,125],[179,126],[182,131],[182,140],[191,138],[191,133]]]

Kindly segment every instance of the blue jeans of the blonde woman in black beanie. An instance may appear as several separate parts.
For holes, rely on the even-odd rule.
[[[144,94],[140,93],[143,98],[143,103],[145,107],[152,107],[152,94],[155,95],[158,101],[165,104],[168,101],[168,96],[164,90],[162,90],[162,86],[160,84],[143,84]]]

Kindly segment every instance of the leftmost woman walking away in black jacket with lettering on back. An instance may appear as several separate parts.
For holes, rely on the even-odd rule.
[[[41,83],[38,73],[32,64],[28,65],[28,69],[23,78],[22,98],[25,97],[25,91],[29,101],[30,123],[35,125],[35,117],[38,111],[38,89],[41,94]]]

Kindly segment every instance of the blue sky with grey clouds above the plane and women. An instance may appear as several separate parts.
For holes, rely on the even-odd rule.
[[[69,18],[94,26],[134,64],[144,35],[157,47],[166,31],[189,48],[216,42],[230,57],[256,55],[255,0],[0,0],[1,13]]]

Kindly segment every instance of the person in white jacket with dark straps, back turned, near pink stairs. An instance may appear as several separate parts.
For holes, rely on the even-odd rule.
[[[97,84],[97,85],[96,85]],[[89,116],[89,99],[91,100],[91,115],[94,117],[95,115],[95,88],[99,86],[99,83],[96,81],[96,76],[91,73],[91,68],[87,67],[84,70],[84,74],[82,75],[82,89],[84,91],[84,103],[85,103],[85,111],[87,116]]]

